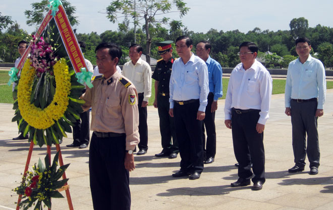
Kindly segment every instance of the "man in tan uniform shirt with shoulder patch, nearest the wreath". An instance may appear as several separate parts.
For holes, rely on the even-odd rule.
[[[101,43],[96,63],[103,76],[82,95],[84,111],[92,108],[89,174],[95,210],[131,208],[129,171],[135,169],[133,150],[139,143],[138,98],[134,85],[117,72],[121,49]]]

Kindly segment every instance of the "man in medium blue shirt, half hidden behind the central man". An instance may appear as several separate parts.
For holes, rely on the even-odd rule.
[[[197,55],[206,62],[208,67],[209,94],[208,103],[203,120],[207,132],[207,143],[205,144],[205,127],[203,131],[203,151],[204,163],[214,162],[216,154],[216,131],[215,131],[215,111],[217,109],[217,100],[222,97],[222,68],[221,65],[209,56],[211,44],[208,41],[200,41],[196,46]],[[205,149],[206,145],[206,149]]]

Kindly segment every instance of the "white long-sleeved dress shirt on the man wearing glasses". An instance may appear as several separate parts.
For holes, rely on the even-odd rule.
[[[231,119],[231,109],[258,109],[258,123],[268,119],[272,78],[267,69],[257,60],[249,69],[239,63],[230,75],[225,102],[225,119]]]

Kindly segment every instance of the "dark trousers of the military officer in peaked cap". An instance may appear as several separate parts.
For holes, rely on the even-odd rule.
[[[159,116],[159,131],[163,151],[166,153],[178,153],[178,142],[175,131],[174,118],[170,116],[169,95],[157,95],[157,110]],[[171,137],[173,140],[171,140]]]

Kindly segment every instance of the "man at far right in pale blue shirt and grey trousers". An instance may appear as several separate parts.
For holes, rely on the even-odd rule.
[[[307,38],[296,40],[299,58],[289,63],[285,113],[291,116],[295,166],[289,173],[304,171],[305,157],[310,162],[310,175],[318,174],[319,141],[317,119],[321,117],[325,103],[326,81],[322,62],[310,55],[311,42]],[[307,138],[307,147],[305,136]]]

